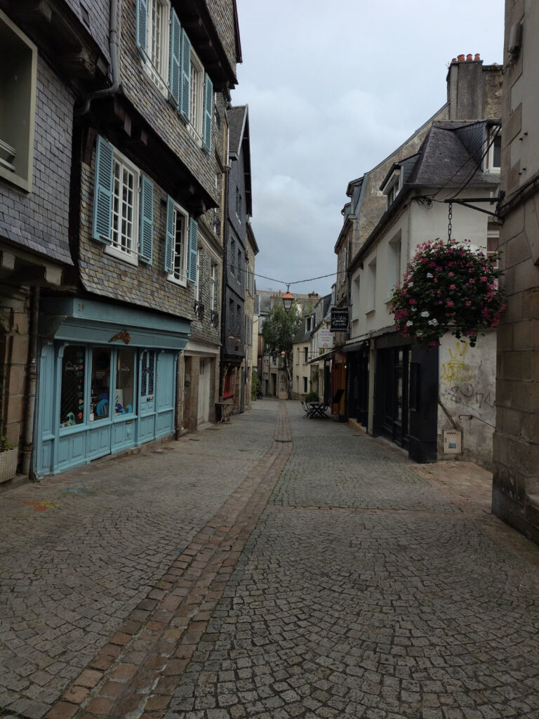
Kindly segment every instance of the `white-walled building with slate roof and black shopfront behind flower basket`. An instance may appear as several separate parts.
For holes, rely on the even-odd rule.
[[[475,349],[448,335],[439,352],[425,352],[395,331],[389,311],[392,290],[418,244],[448,236],[449,196],[451,237],[470,239],[484,252],[497,249],[495,219],[480,203],[477,209],[459,203],[497,196],[502,68],[461,55],[446,81],[447,104],[374,170],[349,183],[351,201],[335,251],[337,303],[349,306],[350,317],[348,332],[336,337],[333,364],[341,371],[333,370],[333,390],[344,390],[346,406],[339,411],[406,447],[416,461],[446,456],[444,437],[451,431],[462,439],[451,458],[490,467],[494,333]]]

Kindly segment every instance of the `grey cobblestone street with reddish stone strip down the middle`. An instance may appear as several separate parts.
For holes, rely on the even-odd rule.
[[[538,719],[539,549],[486,477],[264,399],[9,490],[0,709]]]

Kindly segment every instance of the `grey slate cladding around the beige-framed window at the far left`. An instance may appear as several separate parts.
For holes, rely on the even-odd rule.
[[[74,101],[38,53],[32,192],[0,183],[0,235],[69,265],[73,264],[68,214]]]

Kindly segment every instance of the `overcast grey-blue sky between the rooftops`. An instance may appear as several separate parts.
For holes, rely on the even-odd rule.
[[[256,272],[336,271],[346,186],[446,102],[448,63],[502,63],[503,0],[237,0]],[[259,289],[286,286],[257,279]],[[326,294],[334,278],[292,285]]]

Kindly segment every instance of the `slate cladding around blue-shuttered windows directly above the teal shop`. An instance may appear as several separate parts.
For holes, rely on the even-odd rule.
[[[155,311],[167,312],[193,321],[196,328],[203,328],[203,336],[208,342],[219,344],[218,329],[211,325],[210,313],[203,321],[195,318],[193,285],[182,287],[167,280],[165,273],[165,221],[167,194],[154,183],[154,234],[152,265],[139,262],[138,266],[112,257],[105,252],[105,245],[92,239],[93,187],[96,151],[94,148],[92,165],[82,163],[81,203],[80,203],[80,280],[88,292],[112,300],[132,303],[141,308],[151,307]],[[199,219],[199,224],[201,219]],[[199,244],[202,246],[202,278],[200,299],[207,308],[210,306],[209,272],[211,260],[208,248],[201,240],[201,228],[198,231]]]

